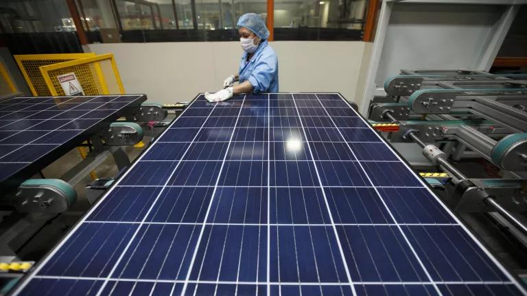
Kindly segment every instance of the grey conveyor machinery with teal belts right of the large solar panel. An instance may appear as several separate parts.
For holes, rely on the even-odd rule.
[[[377,130],[416,169],[430,172],[432,188],[461,217],[484,215],[525,250],[527,75],[401,70],[384,90],[369,106]],[[414,156],[417,147],[428,165]],[[434,180],[434,173],[448,177]]]

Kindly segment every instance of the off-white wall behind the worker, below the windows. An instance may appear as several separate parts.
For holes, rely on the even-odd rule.
[[[355,101],[364,54],[360,41],[270,42],[279,58],[281,92],[338,92]],[[220,90],[237,72],[239,42],[152,42],[93,44],[97,54],[113,53],[126,93],[151,101],[190,101]]]

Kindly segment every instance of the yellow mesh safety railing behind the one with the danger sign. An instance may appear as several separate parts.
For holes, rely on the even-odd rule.
[[[15,55],[14,60],[19,65],[20,71],[35,96],[49,96],[51,92],[40,73],[40,66],[89,58],[95,56],[95,53],[57,53],[57,54],[33,54],[33,55]]]

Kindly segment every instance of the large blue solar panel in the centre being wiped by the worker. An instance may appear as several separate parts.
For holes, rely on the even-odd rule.
[[[525,293],[338,94],[198,96],[16,294],[43,291]]]

